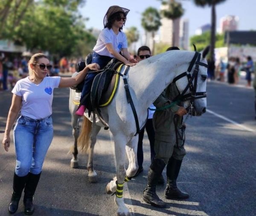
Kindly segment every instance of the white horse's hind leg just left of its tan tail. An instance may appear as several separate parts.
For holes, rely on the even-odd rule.
[[[79,137],[80,128],[79,128],[79,116],[75,115],[75,113],[72,114],[71,124],[73,127],[72,134],[73,134],[73,138],[74,138],[74,145],[73,145],[73,150],[72,150],[73,157],[70,161],[70,167],[78,168],[79,164],[78,164],[78,158],[77,158],[77,155],[78,155],[77,139]]]

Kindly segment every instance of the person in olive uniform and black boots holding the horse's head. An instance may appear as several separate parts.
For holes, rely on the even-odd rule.
[[[170,47],[166,51],[178,49]],[[154,101],[156,108],[172,104],[172,100],[179,94],[175,84],[170,84]],[[179,105],[179,106],[178,106]],[[180,172],[183,157],[186,154],[183,143],[182,116],[187,111],[182,104],[174,104],[168,109],[154,112],[153,126],[155,131],[154,150],[156,156],[148,170],[148,183],[143,191],[145,202],[155,207],[166,207],[166,204],[157,196],[156,185],[164,167],[166,167],[167,185],[164,191],[166,199],[187,199],[189,194],[177,188],[177,177]]]

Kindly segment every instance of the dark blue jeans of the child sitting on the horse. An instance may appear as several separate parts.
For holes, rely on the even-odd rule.
[[[112,58],[109,57],[109,56],[99,55],[98,53],[93,52],[92,63],[98,63],[100,69],[102,69],[108,64],[108,62],[111,59]],[[82,90],[82,93],[81,93],[81,99],[90,92],[91,86],[93,84],[93,79],[96,75],[97,75],[97,73],[88,73],[88,75],[86,76],[86,78],[84,80],[83,90]],[[82,104],[82,105],[87,105],[87,101],[85,100],[85,103]]]

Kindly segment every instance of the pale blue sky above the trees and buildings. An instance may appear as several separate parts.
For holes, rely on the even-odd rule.
[[[209,7],[201,8],[195,6],[193,0],[182,1],[185,13],[183,18],[189,19],[189,35],[195,34],[195,30],[211,20],[211,10]],[[80,9],[83,17],[88,17],[87,28],[103,29],[103,17],[109,6],[119,5],[130,9],[125,27],[136,26],[142,33],[141,13],[153,6],[160,9],[158,0],[87,0]],[[217,28],[220,26],[219,20],[225,15],[239,16],[239,30],[256,30],[256,0],[226,0],[216,7]],[[125,29],[125,28],[124,28]]]

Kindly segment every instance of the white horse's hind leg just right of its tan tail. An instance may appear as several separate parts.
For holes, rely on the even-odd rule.
[[[101,127],[100,126],[95,126],[93,128],[92,133],[91,133],[91,142],[90,142],[90,149],[89,149],[89,158],[88,158],[88,163],[87,163],[87,170],[88,170],[88,178],[90,183],[96,183],[97,182],[97,173],[93,169],[93,151],[94,151],[94,146],[97,141],[97,135],[100,131]]]

